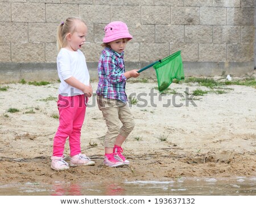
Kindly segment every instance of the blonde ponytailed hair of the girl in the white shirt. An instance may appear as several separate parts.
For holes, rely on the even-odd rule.
[[[57,27],[57,49],[58,52],[61,48],[65,47],[67,44],[66,37],[68,33],[73,33],[76,31],[76,22],[80,21],[85,24],[84,20],[78,17],[69,17],[65,20],[65,22],[61,22],[61,24]],[[86,24],[85,24],[86,25]]]

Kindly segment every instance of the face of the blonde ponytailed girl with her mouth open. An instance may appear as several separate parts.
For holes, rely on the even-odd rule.
[[[68,35],[67,49],[77,51],[85,43],[85,37],[87,35],[87,27],[82,22],[76,23],[76,31]]]

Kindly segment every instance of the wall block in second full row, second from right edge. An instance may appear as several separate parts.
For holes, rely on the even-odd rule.
[[[213,26],[213,43],[240,43],[241,26]]]

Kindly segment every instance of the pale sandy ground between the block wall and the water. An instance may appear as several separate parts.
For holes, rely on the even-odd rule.
[[[131,105],[135,128],[123,143],[130,166],[104,166],[106,125],[93,96],[86,109],[81,148],[96,165],[56,172],[50,167],[50,157],[59,124],[54,118],[59,83],[4,86],[9,88],[0,91],[0,183],[256,176],[255,87],[225,86],[225,94],[193,97],[186,93],[210,89],[196,83],[172,83],[170,88],[177,94],[160,95],[154,81],[128,81],[127,95],[139,100]],[[92,86],[95,92],[97,82]],[[9,108],[19,112],[7,112]],[[68,141],[65,154],[69,162]]]

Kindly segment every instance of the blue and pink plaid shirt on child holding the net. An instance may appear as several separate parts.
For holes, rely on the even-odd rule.
[[[123,61],[123,52],[121,54],[114,52],[110,48],[105,48],[101,52],[98,62],[98,89],[97,95],[104,98],[117,99],[127,102],[125,93],[126,77],[125,62]]]

